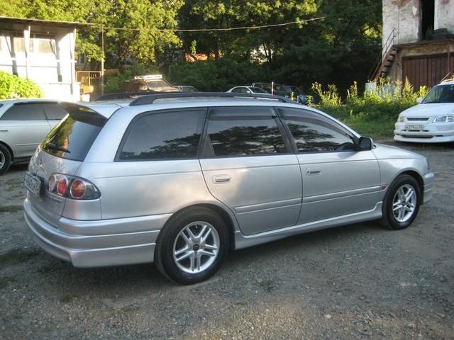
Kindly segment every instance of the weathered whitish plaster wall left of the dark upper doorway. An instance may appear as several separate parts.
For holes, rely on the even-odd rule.
[[[440,0],[445,1],[445,0]],[[383,0],[383,40],[395,30],[394,44],[419,40],[421,26],[421,4],[419,0]]]

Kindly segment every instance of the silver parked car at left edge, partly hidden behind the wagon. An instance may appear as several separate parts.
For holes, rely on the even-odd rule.
[[[11,164],[26,163],[67,112],[49,99],[0,101],[0,175]]]

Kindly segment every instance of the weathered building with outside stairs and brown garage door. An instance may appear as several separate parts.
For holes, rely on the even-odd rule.
[[[454,72],[454,0],[383,0],[382,59],[372,79],[409,79],[415,89]]]

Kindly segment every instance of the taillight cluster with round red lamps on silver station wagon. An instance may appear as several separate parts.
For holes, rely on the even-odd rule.
[[[48,191],[74,200],[96,200],[101,197],[101,193],[92,182],[63,174],[50,175]]]

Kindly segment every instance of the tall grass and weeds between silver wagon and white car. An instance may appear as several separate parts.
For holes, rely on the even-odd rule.
[[[426,96],[428,88],[421,86],[418,91],[406,79],[390,81],[379,79],[375,89],[359,94],[355,82],[347,91],[345,101],[341,100],[335,85],[323,90],[315,83],[312,89],[320,97],[315,106],[341,120],[362,135],[375,138],[392,137],[397,116],[406,108],[416,105],[416,98]]]

